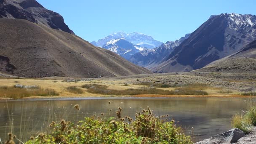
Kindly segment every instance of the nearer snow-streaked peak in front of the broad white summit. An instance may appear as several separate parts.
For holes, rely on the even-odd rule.
[[[147,48],[140,47],[139,45],[133,45],[124,38],[110,40],[103,45],[102,48],[115,52],[127,60],[129,60],[135,53],[147,53]]]

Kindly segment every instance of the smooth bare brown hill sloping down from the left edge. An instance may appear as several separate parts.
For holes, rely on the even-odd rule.
[[[115,77],[151,74],[67,32],[0,18],[0,72],[21,77]]]

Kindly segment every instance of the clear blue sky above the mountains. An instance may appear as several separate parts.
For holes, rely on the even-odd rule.
[[[37,1],[90,42],[113,32],[141,32],[165,43],[195,31],[213,14],[256,14],[256,0]]]

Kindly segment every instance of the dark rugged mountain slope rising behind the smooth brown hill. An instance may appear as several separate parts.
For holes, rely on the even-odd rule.
[[[26,19],[74,34],[59,13],[44,8],[36,0],[0,0],[0,18]]]

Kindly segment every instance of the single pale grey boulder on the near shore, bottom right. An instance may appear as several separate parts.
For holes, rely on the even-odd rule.
[[[238,128],[231,129],[225,133],[212,136],[210,139],[199,141],[196,144],[231,144],[245,136],[245,133]]]

